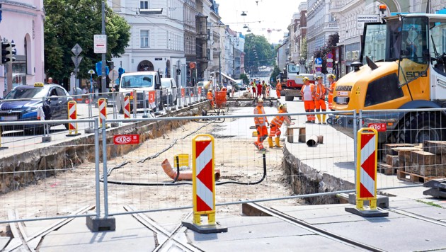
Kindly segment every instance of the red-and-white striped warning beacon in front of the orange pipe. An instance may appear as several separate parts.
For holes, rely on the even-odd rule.
[[[192,187],[193,222],[182,222],[184,227],[200,234],[228,231],[215,221],[215,156],[214,137],[198,134],[192,139]],[[202,224],[201,215],[207,215],[207,224]]]

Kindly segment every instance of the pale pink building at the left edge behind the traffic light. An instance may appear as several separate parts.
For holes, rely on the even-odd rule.
[[[0,97],[8,93],[9,86],[33,85],[45,78],[43,57],[43,0],[8,0],[0,2],[2,17],[0,39],[16,44],[16,61],[11,67],[0,66]],[[5,71],[12,70],[6,74]],[[12,84],[12,85],[11,85]]]

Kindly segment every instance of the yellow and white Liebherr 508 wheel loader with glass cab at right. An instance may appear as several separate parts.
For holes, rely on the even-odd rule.
[[[350,137],[355,123],[358,129],[385,124],[379,143],[446,139],[446,110],[410,111],[446,108],[446,15],[399,14],[366,23],[360,62],[350,67],[353,71],[336,82],[333,108],[363,110],[362,120],[331,115],[329,124]]]

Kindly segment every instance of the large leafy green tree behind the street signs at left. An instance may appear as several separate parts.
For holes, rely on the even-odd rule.
[[[45,71],[53,79],[69,77],[74,69],[72,47],[81,48],[79,77],[88,76],[88,69],[95,69],[101,55],[93,52],[93,35],[101,34],[102,16],[99,0],[44,0],[45,11]],[[130,25],[124,18],[105,7],[105,32],[107,34],[107,59],[125,52],[130,40]]]

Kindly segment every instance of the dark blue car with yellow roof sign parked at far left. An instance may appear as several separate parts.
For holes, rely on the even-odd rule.
[[[0,121],[38,120],[39,110],[45,112],[45,120],[67,120],[68,102],[72,100],[67,90],[58,84],[36,83],[34,86],[16,86],[4,100],[0,101]],[[68,129],[68,124],[65,127]],[[36,129],[41,132],[42,125],[4,126],[4,130]]]

